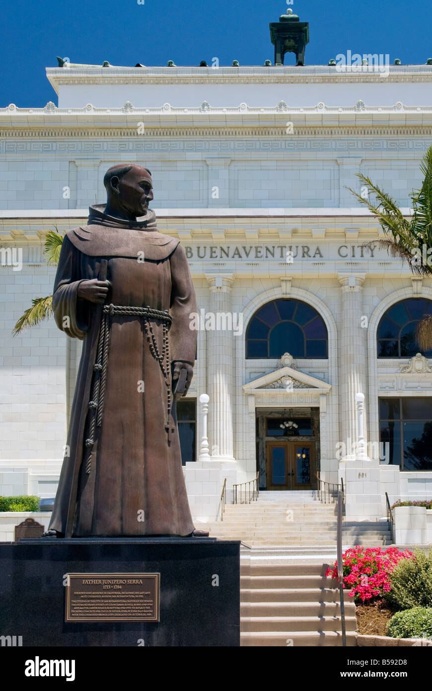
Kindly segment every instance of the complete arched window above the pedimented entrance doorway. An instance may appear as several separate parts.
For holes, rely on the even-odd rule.
[[[259,308],[246,332],[246,358],[326,358],[327,328],[317,310],[301,300],[279,299]]]

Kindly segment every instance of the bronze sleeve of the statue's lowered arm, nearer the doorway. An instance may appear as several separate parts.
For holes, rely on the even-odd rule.
[[[195,363],[197,349],[197,332],[190,329],[190,315],[197,312],[197,299],[188,260],[181,245],[177,245],[170,256],[171,265],[171,301],[170,314],[173,323],[170,328],[171,362],[181,360],[191,365]]]

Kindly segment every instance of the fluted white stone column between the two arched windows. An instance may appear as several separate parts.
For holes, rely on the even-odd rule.
[[[364,278],[365,274],[338,276],[342,286],[340,441],[345,444],[342,460],[355,457],[358,434],[355,396],[366,392],[366,329],[361,321]]]

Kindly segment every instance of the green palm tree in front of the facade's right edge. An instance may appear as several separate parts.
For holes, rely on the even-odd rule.
[[[371,240],[364,243],[365,247],[378,245],[386,249],[390,256],[399,257],[407,263],[418,276],[432,276],[432,146],[426,151],[420,163],[420,170],[424,175],[422,187],[413,189],[410,194],[413,213],[407,220],[396,202],[384,190],[371,182],[371,179],[362,173],[357,173],[357,178],[368,188],[369,194],[375,196],[375,203],[368,198],[357,194],[348,187],[349,191],[366,205],[369,211],[380,222],[385,238]],[[429,250],[429,255],[426,253]],[[426,261],[423,261],[426,256]],[[422,350],[432,348],[432,316],[424,316],[418,323],[416,338]]]

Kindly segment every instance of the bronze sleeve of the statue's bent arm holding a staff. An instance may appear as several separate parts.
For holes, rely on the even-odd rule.
[[[79,276],[79,254],[66,235],[55,276],[52,311],[59,329],[82,341],[89,326],[90,305],[78,297],[79,284],[87,280],[86,276]]]

